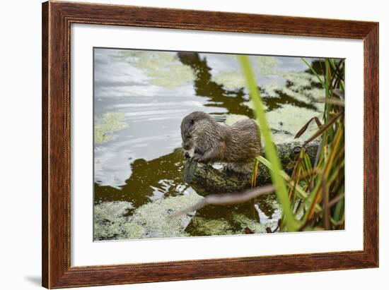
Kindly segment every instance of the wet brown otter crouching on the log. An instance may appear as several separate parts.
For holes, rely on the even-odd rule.
[[[227,170],[248,174],[253,159],[262,152],[260,131],[252,119],[232,126],[218,123],[202,111],[193,111],[181,122],[184,157],[196,162],[225,163]]]

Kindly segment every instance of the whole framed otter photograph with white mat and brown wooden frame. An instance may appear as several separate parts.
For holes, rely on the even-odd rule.
[[[378,267],[378,23],[42,4],[42,286]]]

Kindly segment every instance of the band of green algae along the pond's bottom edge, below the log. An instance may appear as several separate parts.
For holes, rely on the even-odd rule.
[[[262,234],[266,233],[267,227],[275,229],[277,226],[277,220],[261,224],[235,213],[231,213],[231,220],[193,217],[194,213],[174,215],[200,200],[202,197],[190,193],[146,203],[135,210],[131,203],[124,201],[100,203],[95,205],[94,239],[220,236],[244,234],[246,228],[255,234]],[[273,202],[274,207],[278,208],[277,201]],[[129,210],[134,210],[132,215],[128,215]]]

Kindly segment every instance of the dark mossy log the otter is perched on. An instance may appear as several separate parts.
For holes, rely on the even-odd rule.
[[[310,161],[315,161],[318,143],[308,143],[305,148]],[[302,143],[282,143],[277,145],[282,168],[286,173],[293,171],[296,157],[301,150]],[[199,195],[214,193],[231,193],[243,191],[251,186],[251,174],[236,174],[231,171],[215,169],[210,164],[202,164],[194,161],[187,161],[183,171],[183,179]],[[259,164],[257,174],[257,186],[264,186],[271,183],[269,169],[264,164]]]

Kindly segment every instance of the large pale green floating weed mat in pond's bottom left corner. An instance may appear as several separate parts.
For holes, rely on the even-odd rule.
[[[194,213],[174,216],[202,200],[197,193],[164,198],[141,205],[132,212],[131,203],[104,202],[95,205],[95,239],[168,238],[187,236],[185,228]]]

